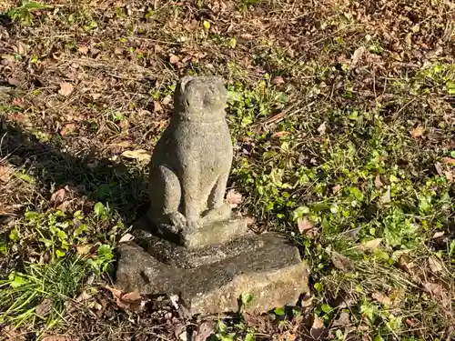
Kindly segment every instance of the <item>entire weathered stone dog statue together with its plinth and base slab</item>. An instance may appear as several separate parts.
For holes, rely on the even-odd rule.
[[[117,249],[119,289],[177,294],[193,314],[234,311],[242,294],[254,296],[249,309],[264,312],[295,305],[308,291],[298,248],[276,234],[256,236],[224,201],[233,155],[226,97],[216,77],[177,85],[174,114],[150,162],[140,246]]]

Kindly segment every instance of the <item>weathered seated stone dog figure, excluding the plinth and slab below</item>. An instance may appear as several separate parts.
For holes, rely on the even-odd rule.
[[[229,219],[224,202],[233,146],[227,90],[217,77],[183,78],[174,114],[150,162],[148,219],[162,235],[185,236]]]

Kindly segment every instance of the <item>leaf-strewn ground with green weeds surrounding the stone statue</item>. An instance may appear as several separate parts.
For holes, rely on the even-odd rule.
[[[0,13],[1,339],[454,337],[453,3],[4,0]],[[175,297],[112,288],[183,75],[225,79],[230,196],[299,246],[301,306],[203,322]]]

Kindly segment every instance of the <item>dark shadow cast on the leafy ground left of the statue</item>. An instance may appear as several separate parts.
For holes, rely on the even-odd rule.
[[[95,150],[81,157],[63,150],[61,145],[41,142],[21,126],[0,120],[0,161],[8,160],[34,177],[36,193],[27,200],[32,205],[41,205],[40,198],[50,198],[54,191],[67,186],[76,197],[115,209],[126,225],[143,215],[147,184],[139,167],[97,158]],[[21,188],[8,191],[20,197]]]

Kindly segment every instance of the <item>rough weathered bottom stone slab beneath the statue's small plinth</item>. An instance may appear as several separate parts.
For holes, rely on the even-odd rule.
[[[298,296],[308,292],[308,267],[297,247],[271,233],[257,238],[257,247],[250,251],[193,268],[169,266],[134,243],[122,243],[116,286],[147,295],[177,294],[192,314],[236,311],[242,293],[254,296],[248,310],[295,305]]]

